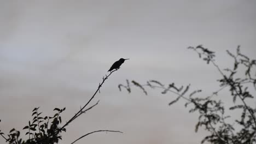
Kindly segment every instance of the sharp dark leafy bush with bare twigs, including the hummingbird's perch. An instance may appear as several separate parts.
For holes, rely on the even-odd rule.
[[[119,68],[118,68],[119,69]],[[88,107],[88,105],[91,103],[91,100],[95,98],[95,95],[99,92],[100,88],[102,87],[103,83],[108,79],[108,77],[114,73],[114,71],[117,71],[118,69],[115,69],[113,71],[110,71],[110,73],[106,76],[103,76],[102,82],[99,84],[96,92],[92,97],[88,100],[88,102],[80,108],[80,110],[75,113],[75,115],[70,118],[64,125],[60,126],[62,122],[61,113],[65,111],[66,107],[63,109],[55,108],[53,111],[55,114],[53,116],[42,116],[42,112],[39,112],[39,107],[36,107],[32,111],[32,121],[28,121],[28,125],[26,125],[23,130],[26,130],[26,134],[28,135],[28,140],[22,140],[20,137],[20,131],[16,129],[11,129],[9,131],[9,134],[5,136],[4,133],[0,130],[0,135],[5,139],[6,142],[10,144],[54,144],[58,143],[59,140],[62,140],[61,133],[63,131],[66,132],[66,127],[68,124],[72,123],[75,119],[77,119],[80,115],[85,113],[88,110],[91,110],[94,106],[98,104],[99,101],[97,101],[96,104]],[[88,107],[88,108],[87,108]],[[0,119],[1,122],[1,119]],[[96,130],[92,131],[91,133],[85,134],[81,137],[79,137],[77,140],[74,140],[72,143],[75,143],[76,141],[82,139],[85,136],[88,136],[92,133],[97,133],[101,131],[109,131],[109,132],[115,132],[115,133],[123,133],[121,131],[115,131],[115,130]]]

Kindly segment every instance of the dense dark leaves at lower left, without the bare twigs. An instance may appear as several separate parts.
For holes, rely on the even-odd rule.
[[[55,114],[53,116],[42,116],[42,112],[39,112],[39,107],[35,107],[32,111],[32,121],[28,121],[23,130],[26,130],[28,136],[27,140],[22,140],[20,138],[20,131],[16,129],[11,129],[7,135],[6,142],[12,144],[53,144],[58,143],[62,139],[59,135],[59,131],[66,131],[65,128],[60,129],[59,124],[61,124],[60,114],[65,111],[63,109],[55,108]],[[1,131],[0,131],[1,132]],[[57,135],[56,135],[57,133]],[[5,138],[4,133],[1,133],[2,137]]]

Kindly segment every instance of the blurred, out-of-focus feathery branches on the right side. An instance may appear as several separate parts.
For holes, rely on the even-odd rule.
[[[165,86],[156,80],[147,81],[143,85],[134,80],[131,81],[133,85],[130,85],[129,80],[126,80],[127,84],[120,84],[118,86],[119,90],[121,91],[121,88],[125,88],[127,92],[131,93],[131,86],[136,86],[147,94],[146,87],[163,89],[162,94],[171,92],[177,95],[176,99],[171,101],[169,105],[177,103],[179,99],[184,99],[187,101],[185,107],[188,105],[191,106],[189,112],[199,112],[199,121],[195,126],[195,131],[197,132],[199,127],[205,127],[207,131],[210,131],[210,135],[206,136],[201,143],[205,141],[214,144],[256,143],[256,109],[249,106],[248,101],[246,101],[247,99],[254,98],[252,93],[248,91],[246,84],[251,83],[254,89],[256,89],[256,75],[252,75],[252,69],[256,66],[256,60],[243,55],[240,52],[240,46],[238,46],[236,55],[227,51],[228,55],[234,59],[234,66],[221,70],[214,61],[215,52],[206,49],[202,45],[196,47],[190,46],[188,49],[194,50],[207,64],[212,63],[222,75],[221,79],[218,80],[220,88],[218,91],[213,92],[210,97],[196,97],[196,94],[199,94],[201,89],[196,89],[189,93],[190,85],[185,86],[185,88],[184,86],[178,87],[174,83]],[[241,67],[245,68],[244,77],[236,75],[238,71],[241,72],[243,70]],[[224,101],[216,97],[224,88],[229,88],[234,106],[226,107]],[[235,119],[227,115],[227,108],[237,113],[242,111],[240,119]],[[227,122],[227,119],[231,122]]]

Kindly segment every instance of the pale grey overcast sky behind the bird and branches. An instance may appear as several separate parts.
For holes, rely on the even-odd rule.
[[[63,135],[71,143],[200,143],[196,115],[174,95],[149,95],[136,88],[119,92],[126,79],[191,83],[210,95],[220,77],[188,46],[216,51],[225,68],[225,50],[255,58],[256,1],[10,1],[0,0],[0,129],[22,129],[31,111],[45,115],[66,106],[62,121],[79,110],[96,91],[102,76],[119,58],[130,58],[104,83],[94,103]],[[225,93],[224,93],[225,94]],[[0,143],[4,143],[0,139]]]

